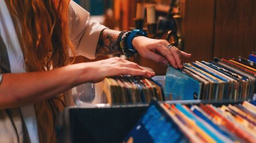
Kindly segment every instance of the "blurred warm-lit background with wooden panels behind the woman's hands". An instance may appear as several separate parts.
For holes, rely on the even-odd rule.
[[[181,50],[191,53],[195,60],[213,57],[232,59],[248,57],[256,51],[255,0],[75,0],[90,12],[90,19],[100,21],[115,30],[131,30],[135,21],[143,19],[147,31],[147,6],[155,6],[157,30],[151,37],[163,38]],[[142,8],[141,8],[142,7]],[[138,17],[138,12],[143,15]],[[137,27],[138,28],[138,27]],[[119,55],[112,55],[119,56]],[[111,57],[111,56],[110,56]],[[100,56],[94,60],[105,59]],[[94,61],[78,57],[77,62]],[[166,66],[141,58],[132,60],[150,67],[156,75],[165,75]]]

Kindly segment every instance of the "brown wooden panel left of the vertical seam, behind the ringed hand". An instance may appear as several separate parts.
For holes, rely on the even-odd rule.
[[[182,36],[184,51],[195,60],[212,59],[214,0],[186,0]]]

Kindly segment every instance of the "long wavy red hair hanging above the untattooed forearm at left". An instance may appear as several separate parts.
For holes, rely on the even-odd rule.
[[[26,63],[26,70],[46,71],[70,63],[70,0],[6,0]]]

